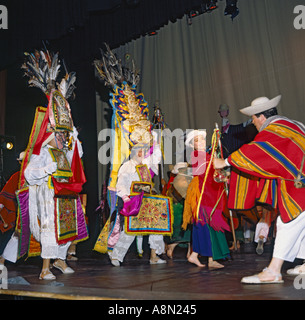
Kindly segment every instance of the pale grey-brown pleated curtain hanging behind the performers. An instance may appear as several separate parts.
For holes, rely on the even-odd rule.
[[[115,50],[123,61],[129,53],[141,70],[138,92],[149,104],[150,119],[159,100],[171,130],[206,129],[209,144],[215,122],[221,124],[220,104],[230,105],[230,121],[238,124],[248,120],[239,109],[252,100],[282,94],[280,114],[305,123],[305,30],[293,24],[300,1],[240,0],[233,22],[223,15],[225,1],[218,4],[191,26],[183,18],[155,37]],[[107,127],[109,113],[101,101],[98,97],[99,130]],[[106,173],[100,165],[99,181]]]

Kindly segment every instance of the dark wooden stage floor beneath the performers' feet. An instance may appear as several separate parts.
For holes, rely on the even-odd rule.
[[[294,288],[294,277],[286,274],[291,264],[284,264],[283,284],[243,285],[243,276],[267,266],[272,248],[261,256],[253,244],[244,245],[225,261],[225,268],[209,270],[187,262],[186,249],[176,248],[167,264],[150,265],[149,250],[138,258],[131,247],[124,263],[113,267],[107,255],[94,251],[78,253],[79,260],[69,262],[74,274],[54,270],[56,280],[39,280],[40,258],[6,264],[8,289],[0,290],[1,300],[303,300],[305,289]],[[204,263],[204,258],[201,258]],[[20,281],[22,281],[20,283]],[[17,283],[16,283],[17,282]]]

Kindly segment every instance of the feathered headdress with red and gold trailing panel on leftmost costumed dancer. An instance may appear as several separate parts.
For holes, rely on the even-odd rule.
[[[67,99],[73,94],[76,81],[75,72],[68,73],[65,70],[66,74],[61,82],[56,82],[61,68],[58,53],[35,50],[34,53],[25,52],[25,57],[21,68],[29,77],[29,86],[42,90],[49,103],[47,108],[36,108],[26,156],[21,167],[20,187],[26,185],[24,169],[31,155],[40,154],[41,147],[51,138],[54,131],[73,131],[73,120]]]

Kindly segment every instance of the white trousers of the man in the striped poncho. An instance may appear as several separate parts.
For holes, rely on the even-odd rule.
[[[273,257],[289,262],[305,259],[305,211],[288,223],[279,216],[276,227]]]

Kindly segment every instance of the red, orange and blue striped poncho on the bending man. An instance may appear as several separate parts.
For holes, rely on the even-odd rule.
[[[228,157],[234,167],[228,207],[247,210],[257,202],[267,203],[278,210],[283,222],[295,219],[305,210],[305,188],[294,183],[303,158],[305,126],[280,116],[268,118],[253,142]],[[301,171],[305,182],[305,161]]]

